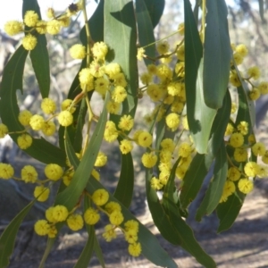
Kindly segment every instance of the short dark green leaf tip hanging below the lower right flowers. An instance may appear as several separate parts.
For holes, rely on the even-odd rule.
[[[245,195],[232,194],[228,197],[226,202],[220,203],[217,206],[217,216],[220,220],[220,224],[217,232],[222,232],[223,230],[228,230],[235,222],[239,215],[239,211],[243,205]]]

